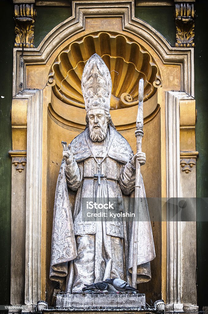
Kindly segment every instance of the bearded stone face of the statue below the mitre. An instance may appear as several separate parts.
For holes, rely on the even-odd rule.
[[[103,109],[91,109],[88,111],[89,133],[93,142],[101,142],[107,133],[107,118]]]

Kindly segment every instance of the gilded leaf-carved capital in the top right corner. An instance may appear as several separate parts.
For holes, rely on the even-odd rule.
[[[176,47],[194,47],[194,3],[175,4]]]

